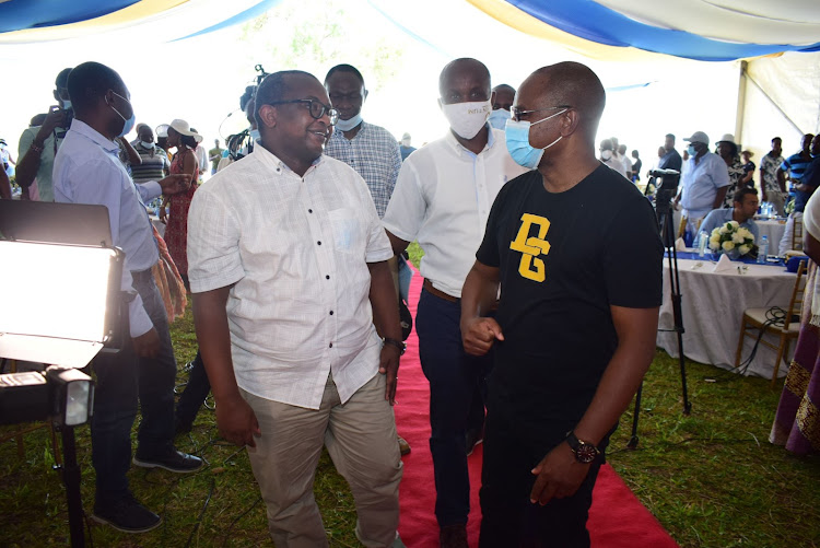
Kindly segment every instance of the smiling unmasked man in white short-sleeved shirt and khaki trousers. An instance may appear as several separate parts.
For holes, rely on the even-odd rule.
[[[393,252],[364,179],[321,154],[329,104],[306,72],[260,84],[258,147],[191,202],[194,317],[220,433],[248,445],[274,544],[327,546],[313,497],[326,445],[359,539],[385,547],[400,543]]]

